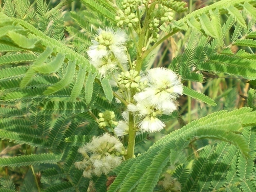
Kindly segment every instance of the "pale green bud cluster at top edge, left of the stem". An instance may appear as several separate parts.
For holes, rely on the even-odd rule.
[[[141,0],[123,0],[122,2],[122,10],[117,12],[117,16],[115,19],[118,21],[117,26],[127,25],[129,27],[136,26],[139,22],[139,18],[134,13],[136,7],[141,4]]]

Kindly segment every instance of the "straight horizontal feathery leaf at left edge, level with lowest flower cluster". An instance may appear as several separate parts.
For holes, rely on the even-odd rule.
[[[1,158],[0,166],[27,166],[39,165],[41,163],[57,163],[60,160],[60,155],[55,154],[39,154],[39,155],[24,155],[19,157]]]

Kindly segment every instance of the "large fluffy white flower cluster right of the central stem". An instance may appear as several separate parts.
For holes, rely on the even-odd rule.
[[[177,75],[169,69],[148,70],[144,78],[146,88],[135,94],[136,104],[129,104],[127,109],[140,119],[138,127],[141,131],[157,132],[165,126],[157,116],[177,109],[176,98],[182,95],[183,88]]]

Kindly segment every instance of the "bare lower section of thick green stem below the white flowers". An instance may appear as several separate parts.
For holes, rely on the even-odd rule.
[[[134,116],[129,112],[129,138],[127,145],[127,155],[124,158],[130,159],[134,156],[134,146],[135,146],[135,136],[136,136],[136,127],[134,126]]]

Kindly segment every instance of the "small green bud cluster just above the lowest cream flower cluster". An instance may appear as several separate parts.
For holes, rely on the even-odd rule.
[[[99,113],[99,127],[103,128],[106,126],[118,125],[118,122],[115,121],[115,113],[113,111],[104,111]]]

